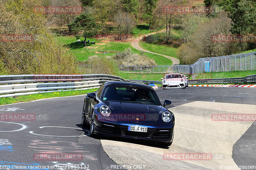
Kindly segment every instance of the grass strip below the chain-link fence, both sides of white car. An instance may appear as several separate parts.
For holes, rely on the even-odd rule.
[[[245,77],[248,75],[255,75],[256,70],[248,71],[230,71],[230,72],[207,72],[205,74],[195,74],[196,79],[208,79],[208,78],[233,78],[233,77]],[[156,80],[161,81],[165,74],[137,74],[137,73],[120,73],[119,76],[124,79],[131,80]],[[189,80],[193,79],[192,75],[188,75]]]

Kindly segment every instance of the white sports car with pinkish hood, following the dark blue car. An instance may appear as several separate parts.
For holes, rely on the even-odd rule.
[[[162,89],[186,88],[186,81],[180,73],[166,74],[161,80]]]

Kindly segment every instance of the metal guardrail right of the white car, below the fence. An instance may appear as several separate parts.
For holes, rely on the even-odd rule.
[[[253,83],[256,82],[256,75],[249,75],[239,78],[211,78],[211,79],[195,79],[188,80],[188,84],[233,84],[233,83]]]

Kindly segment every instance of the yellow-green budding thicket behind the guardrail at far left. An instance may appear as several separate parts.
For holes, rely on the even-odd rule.
[[[3,35],[30,37],[24,42],[0,41],[1,73],[77,73],[75,57],[54,41],[46,27],[46,16],[33,11],[34,7],[44,4],[41,0],[0,1],[0,38],[7,37]]]

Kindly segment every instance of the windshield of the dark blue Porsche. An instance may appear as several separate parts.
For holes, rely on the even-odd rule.
[[[101,96],[101,100],[117,100],[158,106],[161,105],[154,90],[125,85],[108,85]]]

